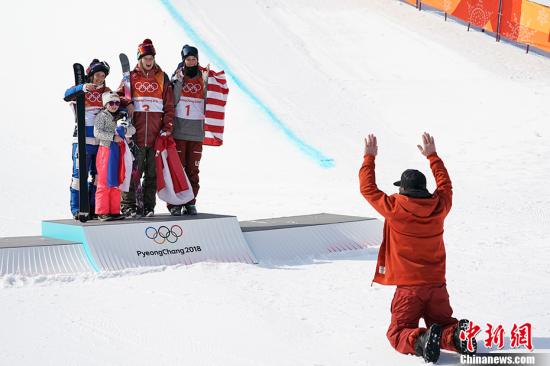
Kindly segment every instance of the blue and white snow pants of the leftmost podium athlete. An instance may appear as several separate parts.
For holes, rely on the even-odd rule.
[[[90,200],[90,211],[94,212],[95,207],[95,191],[96,191],[96,155],[97,155],[97,145],[86,144],[86,169],[88,170],[88,178],[91,178],[91,181],[88,182],[88,198]],[[79,186],[79,171],[78,171],[78,144],[73,144],[72,149],[73,157],[73,174],[71,179],[71,213],[76,215],[80,210],[80,199],[78,197],[78,192],[80,190]]]

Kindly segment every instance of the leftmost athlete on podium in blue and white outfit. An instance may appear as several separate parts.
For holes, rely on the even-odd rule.
[[[103,104],[101,102],[101,94],[110,91],[105,85],[105,78],[109,75],[109,64],[105,61],[99,61],[93,59],[90,66],[86,69],[86,81],[85,84],[76,85],[70,87],[65,92],[65,101],[71,102],[74,110],[76,97],[79,93],[84,93],[85,108],[86,108],[86,169],[88,170],[88,176],[91,178],[89,182],[89,200],[90,200],[90,217],[93,218],[95,209],[95,191],[96,191],[96,155],[99,142],[94,137],[94,117],[99,113]],[[76,115],[76,111],[75,111]],[[71,213],[75,220],[78,220],[78,212],[80,210],[80,202],[78,197],[79,191],[79,172],[78,172],[78,137],[77,137],[77,125],[75,119],[75,127],[73,132],[73,173],[71,179]]]

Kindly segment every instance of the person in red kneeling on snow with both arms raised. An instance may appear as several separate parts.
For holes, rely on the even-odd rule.
[[[418,148],[430,161],[437,183],[433,194],[426,189],[424,174],[412,169],[394,183],[399,194],[388,196],[379,190],[374,172],[378,145],[372,134],[365,139],[359,182],[361,194],[385,218],[374,282],[397,285],[387,337],[397,351],[436,362],[440,348],[467,354],[475,353],[477,344],[474,339],[470,352],[460,338],[469,321],[452,317],[446,287],[443,222],[452,204],[451,179],[433,137],[424,133],[422,141]],[[420,318],[428,329],[418,327]]]

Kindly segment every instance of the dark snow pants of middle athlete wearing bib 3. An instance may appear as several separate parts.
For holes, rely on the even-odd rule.
[[[155,148],[153,146],[138,146],[135,149],[134,158],[138,165],[138,175],[143,175],[143,209],[154,210],[157,196],[157,170],[155,162]],[[139,198],[141,199],[141,198]],[[136,181],[132,177],[130,190],[122,192],[122,209],[137,209],[136,202]]]

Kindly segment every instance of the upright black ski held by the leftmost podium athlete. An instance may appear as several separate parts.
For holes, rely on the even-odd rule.
[[[73,64],[75,85],[86,82],[84,66]],[[86,222],[90,218],[90,197],[88,195],[88,165],[86,164],[86,116],[84,105],[84,93],[79,93],[76,97],[76,125],[78,136],[78,200],[79,212],[78,220]]]

